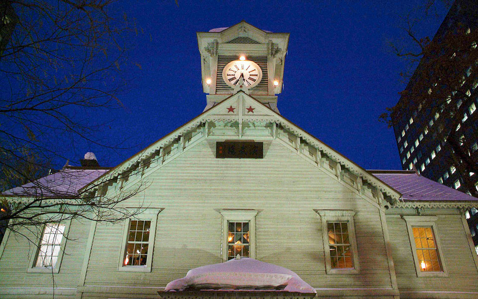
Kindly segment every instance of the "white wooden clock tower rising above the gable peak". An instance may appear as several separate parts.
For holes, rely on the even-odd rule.
[[[197,37],[203,90],[208,94],[205,111],[243,90],[278,112],[289,33],[265,31],[241,21],[197,32]]]

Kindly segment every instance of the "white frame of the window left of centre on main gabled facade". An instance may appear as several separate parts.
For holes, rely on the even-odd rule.
[[[156,227],[158,215],[163,209],[161,208],[147,208],[145,211],[141,212],[134,217],[125,219],[123,221],[123,234],[121,239],[121,247],[119,250],[119,261],[118,261],[118,271],[119,272],[151,272],[151,265],[153,261],[153,252],[154,252],[154,243],[156,239]],[[126,244],[129,232],[129,226],[131,220],[138,221],[151,221],[149,226],[149,240],[148,240],[148,255],[146,260],[146,265],[143,266],[124,266],[123,259],[124,253],[126,251]]]

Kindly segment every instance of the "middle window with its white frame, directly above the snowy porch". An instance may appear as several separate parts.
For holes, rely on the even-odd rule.
[[[223,260],[239,257],[255,258],[256,210],[221,210],[224,218]]]

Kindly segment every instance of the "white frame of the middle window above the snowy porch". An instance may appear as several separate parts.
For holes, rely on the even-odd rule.
[[[221,256],[223,262],[228,261],[228,223],[232,222],[249,222],[249,258],[255,259],[256,242],[255,242],[255,216],[258,210],[249,209],[223,209],[219,213],[222,216],[221,231]]]

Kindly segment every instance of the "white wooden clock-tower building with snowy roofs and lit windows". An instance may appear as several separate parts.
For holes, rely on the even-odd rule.
[[[304,296],[267,281],[163,292],[190,269],[238,255],[295,272],[320,298],[478,298],[465,219],[477,198],[413,171],[365,170],[279,114],[288,33],[242,21],[197,36],[202,114],[110,170],[61,171],[69,189],[58,192],[70,195],[147,182],[122,203],[141,213],[56,223],[43,237],[25,231],[47,254],[7,231],[0,298]],[[6,193],[22,198],[25,187]]]

